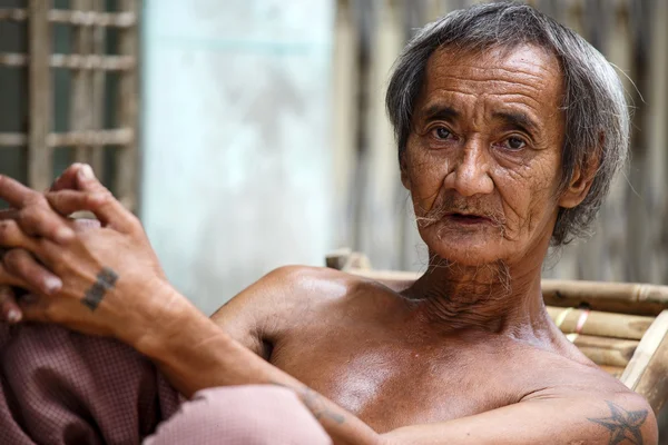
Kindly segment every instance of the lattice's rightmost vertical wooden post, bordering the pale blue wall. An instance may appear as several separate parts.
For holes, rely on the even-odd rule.
[[[139,6],[136,0],[121,0],[120,7],[124,12],[132,12],[136,17],[136,23],[139,23]],[[136,56],[138,24],[125,28],[120,31],[119,52],[125,56]],[[135,67],[127,71],[120,71],[119,97],[118,97],[118,127],[135,129],[132,140],[119,147],[118,161],[116,164],[116,177],[114,189],[122,205],[131,211],[137,211],[137,175],[139,171],[139,157],[137,154],[137,119],[138,119],[138,95],[137,95],[137,69],[138,63],[135,59]]]

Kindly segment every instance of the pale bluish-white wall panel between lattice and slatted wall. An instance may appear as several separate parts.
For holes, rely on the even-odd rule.
[[[332,0],[150,0],[141,218],[210,313],[331,245]]]

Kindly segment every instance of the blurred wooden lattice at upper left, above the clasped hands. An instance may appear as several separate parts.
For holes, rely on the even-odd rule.
[[[0,69],[20,72],[1,87],[13,90],[16,113],[27,105],[18,127],[0,122],[0,150],[18,149],[24,171],[3,172],[46,189],[68,164],[89,162],[136,209],[138,9],[138,0],[0,1]]]

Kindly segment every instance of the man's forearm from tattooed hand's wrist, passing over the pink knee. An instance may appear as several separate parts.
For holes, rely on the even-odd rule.
[[[187,397],[204,388],[274,384],[295,392],[335,444],[376,445],[380,436],[357,417],[272,366],[230,338],[204,314],[183,307],[134,345]]]

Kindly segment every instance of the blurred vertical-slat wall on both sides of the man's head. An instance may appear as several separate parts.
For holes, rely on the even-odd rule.
[[[396,148],[383,109],[390,68],[413,29],[470,3],[338,1],[335,239],[366,253],[375,267],[420,270],[426,263],[412,206],[399,181]],[[616,181],[596,235],[552,257],[544,275],[668,283],[668,2],[532,4],[576,29],[623,71],[635,111],[630,168]]]

